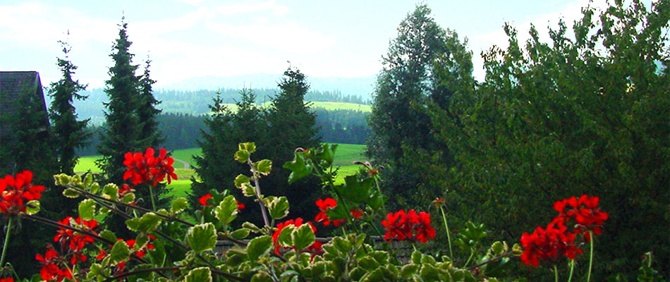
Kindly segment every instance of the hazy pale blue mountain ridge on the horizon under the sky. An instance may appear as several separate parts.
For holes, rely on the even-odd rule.
[[[274,89],[281,80],[281,74],[256,73],[250,75],[233,76],[200,76],[188,78],[166,85],[157,85],[155,88],[164,90],[218,90],[218,89]],[[360,78],[315,78],[307,75],[310,90],[339,91],[343,95],[361,97],[363,100],[372,100],[375,75]]]

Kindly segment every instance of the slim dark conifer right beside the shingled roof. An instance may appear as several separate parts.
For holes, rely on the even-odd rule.
[[[86,85],[80,84],[78,80],[73,80],[72,75],[77,66],[68,60],[71,47],[66,42],[61,42],[61,46],[65,59],[58,59],[58,66],[61,68],[63,77],[58,82],[51,83],[49,95],[52,100],[49,107],[49,117],[53,122],[54,144],[57,147],[59,171],[72,175],[78,159],[75,149],[83,147],[90,136],[90,133],[86,130],[90,119],[77,120],[73,102],[74,99],[86,99],[85,96],[78,94],[78,92],[86,89]]]

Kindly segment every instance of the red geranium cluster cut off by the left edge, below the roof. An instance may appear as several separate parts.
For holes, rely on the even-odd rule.
[[[39,200],[42,197],[44,186],[31,185],[32,172],[23,171],[16,177],[5,176],[0,178],[0,212],[18,214],[25,212],[23,200]]]

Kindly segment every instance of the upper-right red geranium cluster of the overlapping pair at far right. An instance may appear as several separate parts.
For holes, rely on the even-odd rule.
[[[591,240],[588,231],[596,235],[602,234],[602,224],[607,220],[607,214],[600,212],[599,198],[582,195],[579,199],[571,197],[554,203],[554,209],[559,212],[553,222],[564,224],[571,219],[576,221],[573,232],[583,234],[585,241]]]

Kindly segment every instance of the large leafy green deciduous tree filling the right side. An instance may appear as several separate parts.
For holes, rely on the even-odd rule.
[[[574,37],[560,22],[549,43],[531,27],[521,45],[506,25],[509,45],[484,54],[480,84],[437,61],[439,81],[454,90],[448,109],[430,107],[456,160],[447,207],[513,238],[548,216],[553,199],[598,193],[616,239],[596,245],[605,263],[595,280],[619,271],[632,279],[632,259],[647,250],[668,261],[659,222],[670,199],[669,11],[667,1],[650,11],[639,1],[587,7]],[[632,232],[640,228],[643,237]]]

